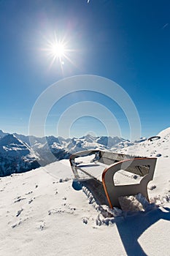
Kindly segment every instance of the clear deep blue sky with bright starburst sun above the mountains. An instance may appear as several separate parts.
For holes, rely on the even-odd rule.
[[[56,40],[61,55],[54,49]],[[1,0],[0,129],[28,135],[31,111],[49,86],[96,75],[115,81],[129,95],[139,113],[141,136],[156,135],[170,127],[169,45],[169,0]],[[119,135],[130,137],[121,105],[95,91],[77,91],[55,102],[45,135],[108,135],[109,124],[97,117],[97,108],[81,116],[80,102],[103,106],[102,120],[107,108]],[[69,127],[63,121],[58,132],[58,122],[74,105],[79,118],[73,116]],[[114,125],[109,135],[116,135]]]

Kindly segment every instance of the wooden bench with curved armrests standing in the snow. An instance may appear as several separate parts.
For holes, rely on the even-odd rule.
[[[138,193],[149,201],[147,184],[152,181],[156,160],[100,150],[80,151],[69,159],[74,179],[101,184],[111,208],[120,207],[119,197]]]

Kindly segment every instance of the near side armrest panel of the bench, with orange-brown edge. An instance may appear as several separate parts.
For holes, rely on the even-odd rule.
[[[121,196],[136,195],[141,193],[147,198],[147,200],[149,200],[147,195],[147,184],[149,181],[152,181],[156,160],[156,158],[147,157],[126,159],[113,165],[109,165],[109,167],[104,170],[102,174],[102,184],[111,208],[113,208],[113,206],[120,207],[118,197]],[[142,175],[143,178],[139,184],[115,186],[114,176],[118,170],[128,170],[133,173],[131,170],[140,166],[148,167],[148,173],[146,173],[144,176]]]

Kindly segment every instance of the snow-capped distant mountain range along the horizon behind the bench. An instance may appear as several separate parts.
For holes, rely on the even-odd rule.
[[[141,138],[136,141],[147,140]],[[82,138],[62,138],[9,134],[0,130],[0,176],[21,173],[50,162],[69,159],[77,151],[98,149],[115,151],[133,145],[129,140],[119,137],[85,135]],[[52,153],[52,154],[51,154]]]

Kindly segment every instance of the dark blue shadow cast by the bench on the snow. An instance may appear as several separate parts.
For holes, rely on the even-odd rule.
[[[94,182],[94,180],[83,182],[73,181],[72,187],[75,190],[82,189],[82,186],[90,190],[98,204],[102,205],[106,203],[104,191],[102,191],[103,188],[100,184]],[[148,211],[139,211],[125,217],[115,217],[115,224],[117,225],[117,230],[128,256],[147,255],[142,249],[142,246],[140,246],[138,239],[142,236],[142,233],[160,219],[170,221],[170,208],[151,208]],[[154,237],[151,239],[154,239]]]

